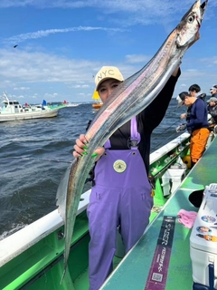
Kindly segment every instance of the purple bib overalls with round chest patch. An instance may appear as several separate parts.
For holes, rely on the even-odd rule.
[[[90,290],[98,290],[112,271],[117,227],[126,253],[149,223],[153,198],[146,167],[137,150],[140,134],[136,117],[131,120],[131,149],[106,151],[95,168],[95,186],[88,207]]]

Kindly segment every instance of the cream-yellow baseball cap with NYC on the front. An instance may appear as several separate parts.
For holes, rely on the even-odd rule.
[[[96,91],[99,89],[99,85],[101,82],[104,82],[108,79],[115,79],[120,82],[124,81],[123,75],[118,70],[118,67],[116,66],[103,66],[99,72],[97,73],[95,77],[95,83],[96,83]]]

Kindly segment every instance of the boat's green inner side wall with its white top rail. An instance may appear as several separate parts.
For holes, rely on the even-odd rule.
[[[188,147],[189,134],[184,133],[150,154],[150,168],[156,176],[156,187],[157,191],[159,191],[155,196],[155,204],[159,206],[165,204],[167,198],[163,197],[163,191],[160,189],[160,179],[165,170],[175,162],[179,155],[186,154]],[[67,271],[66,279],[60,285],[60,289],[68,289],[69,285],[71,285],[71,289],[80,289],[79,287],[74,288],[73,283],[80,276],[80,273],[88,267],[88,243],[90,237],[86,208],[89,204],[89,198],[90,190],[81,195],[71,241],[72,250],[68,267],[68,269],[73,268],[73,271],[71,273],[69,270]],[[153,213],[152,219],[156,218],[157,215],[158,212]],[[78,246],[79,243],[83,243],[82,248]],[[76,250],[73,251],[75,247]],[[0,276],[2,277],[0,279],[0,288],[20,289],[29,288],[31,285],[31,289],[37,289],[39,278],[46,280],[51,268],[57,277],[56,279],[60,278],[61,281],[63,252],[63,221],[58,210],[55,209],[48,215],[17,231],[12,236],[5,237],[4,240],[0,241]],[[79,256],[82,255],[83,261],[80,262]],[[38,278],[36,279],[36,277]],[[37,281],[35,282],[35,280]],[[56,285],[56,289],[59,289],[59,286]]]

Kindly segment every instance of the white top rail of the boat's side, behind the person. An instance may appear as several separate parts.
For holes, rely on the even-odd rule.
[[[182,142],[188,138],[189,134],[184,133],[177,137],[175,140],[172,140],[163,146],[161,149],[151,153],[150,163],[155,163],[157,160],[167,154],[167,152],[174,150],[175,147],[179,145],[181,146]],[[84,192],[81,195],[77,215],[86,210],[89,205],[89,200],[90,190]],[[13,235],[5,237],[5,239],[0,241],[0,266],[5,265],[5,263],[14,258],[14,256],[18,256],[19,254],[23,253],[25,249],[33,246],[35,243],[42,240],[42,238],[47,237],[61,226],[63,226],[63,220],[58,213],[58,209],[55,209],[48,215],[15,232]]]

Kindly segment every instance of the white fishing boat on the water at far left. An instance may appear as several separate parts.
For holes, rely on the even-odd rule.
[[[56,117],[58,111],[62,108],[62,106],[49,107],[45,101],[40,105],[25,105],[23,107],[18,101],[9,100],[5,92],[3,92],[3,96],[5,100],[1,105],[0,122],[52,118]]]

